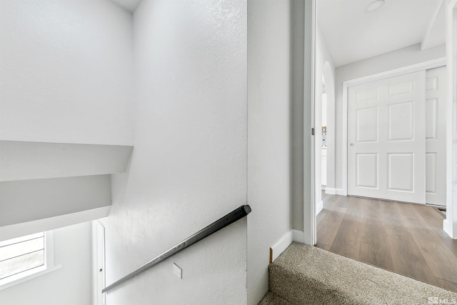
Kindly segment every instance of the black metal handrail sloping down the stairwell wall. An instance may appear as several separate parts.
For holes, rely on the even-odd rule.
[[[221,219],[214,221],[214,223],[210,224],[209,226],[206,226],[206,228],[201,229],[196,234],[188,237],[187,239],[184,239],[184,241],[181,241],[179,244],[177,244],[173,248],[165,251],[164,253],[160,254],[159,256],[154,257],[154,259],[151,259],[151,261],[148,261],[143,266],[140,266],[139,268],[137,268],[134,271],[132,271],[131,273],[127,274],[123,278],[121,278],[121,279],[115,281],[113,284],[107,286],[105,289],[103,289],[101,291],[101,293],[105,293],[106,291],[113,289],[114,287],[118,286],[119,284],[124,283],[124,281],[127,281],[128,279],[131,279],[138,274],[141,274],[141,272],[146,271],[147,269],[151,268],[152,266],[154,266],[156,264],[159,264],[161,261],[164,261],[165,259],[168,259],[170,256],[173,256],[174,254],[178,253],[179,251],[186,249],[187,247],[195,244],[197,241],[201,241],[201,239],[204,239],[205,237],[210,236],[211,234],[219,231],[220,229],[224,229],[226,226],[233,224],[233,222],[238,221],[239,219],[242,219],[243,217],[247,216],[249,213],[251,213],[251,206],[248,206],[248,205],[240,206],[238,209],[231,211],[226,216],[221,217]]]

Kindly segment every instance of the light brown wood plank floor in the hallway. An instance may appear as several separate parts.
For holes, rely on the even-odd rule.
[[[431,206],[323,194],[318,248],[457,292],[457,240]]]

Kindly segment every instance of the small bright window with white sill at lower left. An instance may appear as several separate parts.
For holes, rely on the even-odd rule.
[[[0,290],[59,269],[52,231],[0,241]]]

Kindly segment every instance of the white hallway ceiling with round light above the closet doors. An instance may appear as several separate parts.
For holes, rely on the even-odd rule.
[[[439,26],[429,26],[442,0],[386,0],[377,11],[366,11],[373,0],[317,0],[318,26],[333,64],[343,66],[418,44],[427,31],[436,35]],[[444,22],[444,21],[443,21]],[[433,29],[432,29],[433,28]],[[443,41],[434,36],[431,44]]]

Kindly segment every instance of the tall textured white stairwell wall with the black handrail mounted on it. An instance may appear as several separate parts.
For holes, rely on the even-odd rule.
[[[246,204],[246,1],[144,0],[134,38],[135,149],[104,219],[107,284]],[[246,304],[246,255],[242,219],[107,304]]]

